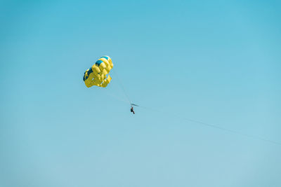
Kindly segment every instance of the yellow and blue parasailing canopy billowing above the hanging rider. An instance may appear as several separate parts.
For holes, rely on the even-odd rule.
[[[86,87],[90,88],[93,85],[97,85],[105,88],[111,81],[110,75],[107,75],[112,69],[112,60],[108,56],[103,56],[93,64],[90,69],[87,69],[84,73],[83,81]]]

